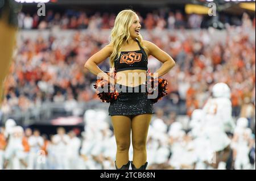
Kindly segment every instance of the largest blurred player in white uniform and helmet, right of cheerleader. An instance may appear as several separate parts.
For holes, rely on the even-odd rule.
[[[235,124],[232,117],[232,103],[230,101],[230,89],[226,83],[216,83],[212,88],[212,98],[209,98],[203,107],[205,137],[210,144],[210,150],[215,155],[214,169],[218,166],[226,169],[226,161],[231,154],[230,138],[225,132],[229,127],[233,131]],[[221,163],[221,165],[219,165]]]

